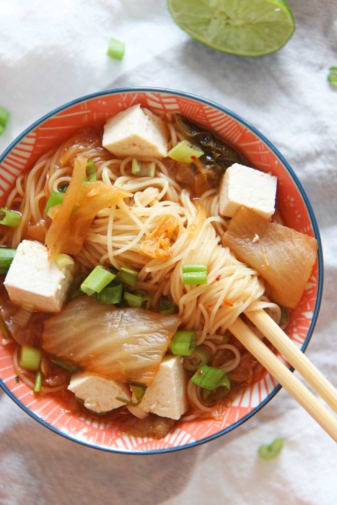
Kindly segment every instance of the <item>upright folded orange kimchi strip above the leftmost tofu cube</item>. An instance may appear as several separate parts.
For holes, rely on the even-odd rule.
[[[59,253],[76,255],[83,246],[88,229],[105,208],[116,205],[129,193],[102,182],[83,182],[87,159],[78,156],[61,205],[52,207],[52,224],[45,236],[51,258]]]

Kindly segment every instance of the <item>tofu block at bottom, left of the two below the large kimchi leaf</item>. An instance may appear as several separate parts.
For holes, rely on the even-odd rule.
[[[88,372],[73,374],[68,389],[84,401],[84,407],[98,413],[109,412],[125,405],[125,402],[116,400],[116,396],[131,399],[127,384]]]

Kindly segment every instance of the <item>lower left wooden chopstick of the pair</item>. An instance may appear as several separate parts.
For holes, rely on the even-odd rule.
[[[229,331],[270,372],[310,416],[337,442],[337,420],[326,410],[302,382],[273,354],[258,336],[237,318]]]

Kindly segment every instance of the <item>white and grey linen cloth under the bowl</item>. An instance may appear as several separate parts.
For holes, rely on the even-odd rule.
[[[197,93],[259,128],[302,181],[321,230],[325,283],[307,355],[336,383],[337,4],[289,0],[293,38],[264,58],[191,39],[164,0],[0,0],[0,105],[11,112],[0,151],[31,122],[102,88],[162,86]],[[108,39],[126,41],[122,62]],[[285,438],[274,461],[259,445]],[[248,423],[212,442],[154,456],[114,455],[41,427],[0,392],[0,504],[335,505],[334,442],[281,391]]]

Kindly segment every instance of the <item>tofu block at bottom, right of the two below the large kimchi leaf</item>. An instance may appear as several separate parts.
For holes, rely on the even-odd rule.
[[[186,375],[181,356],[164,357],[139,408],[171,419],[180,419],[187,411]]]

